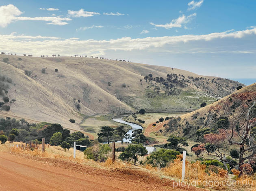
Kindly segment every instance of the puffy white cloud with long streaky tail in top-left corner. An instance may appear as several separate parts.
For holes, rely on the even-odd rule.
[[[6,27],[12,21],[22,20],[22,21],[51,21],[46,24],[53,25],[66,25],[67,22],[63,21],[71,21],[72,19],[66,17],[17,17],[20,16],[22,12],[14,5],[9,4],[6,6],[0,6],[0,26]]]

